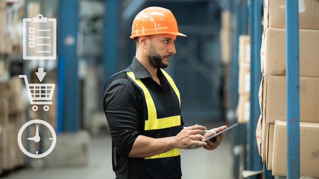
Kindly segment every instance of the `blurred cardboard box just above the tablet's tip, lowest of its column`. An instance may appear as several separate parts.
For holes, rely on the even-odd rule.
[[[237,108],[238,123],[248,123],[250,118],[250,101],[249,94],[242,94],[239,96]]]

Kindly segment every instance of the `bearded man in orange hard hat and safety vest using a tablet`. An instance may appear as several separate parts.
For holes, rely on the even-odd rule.
[[[103,105],[113,141],[116,178],[180,178],[180,148],[192,145],[215,149],[215,142],[201,142],[204,126],[183,128],[180,94],[162,69],[176,53],[177,22],[168,9],[149,7],[132,23],[136,55],[132,64],[105,84]],[[222,126],[215,131],[221,131]]]

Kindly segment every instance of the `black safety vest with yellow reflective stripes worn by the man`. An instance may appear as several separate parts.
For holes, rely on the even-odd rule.
[[[177,135],[181,130],[180,94],[173,79],[161,69],[170,87],[169,93],[158,93],[148,88],[134,72],[126,72],[127,78],[141,91],[144,99],[144,131],[143,135],[153,138]],[[171,178],[181,176],[180,149],[145,158],[148,174],[154,178]]]

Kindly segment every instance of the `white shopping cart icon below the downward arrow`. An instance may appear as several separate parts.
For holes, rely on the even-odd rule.
[[[49,104],[52,104],[52,96],[55,90],[56,84],[54,83],[29,83],[26,75],[19,75],[19,78],[24,78],[26,90],[28,91],[30,104],[32,104],[32,110],[37,111],[37,105],[44,105],[43,110],[49,110]]]

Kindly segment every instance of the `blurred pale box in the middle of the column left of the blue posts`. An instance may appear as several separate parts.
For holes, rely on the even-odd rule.
[[[250,65],[241,63],[238,69],[238,93],[250,94]]]

